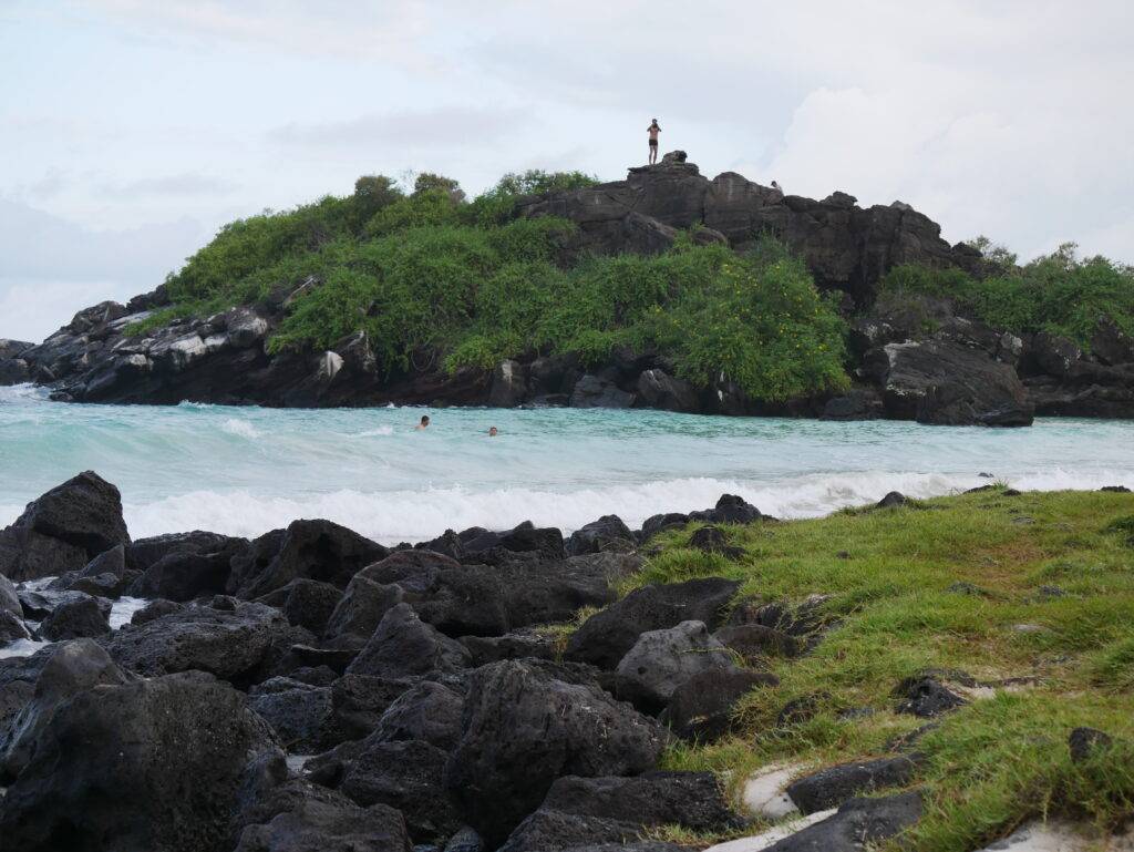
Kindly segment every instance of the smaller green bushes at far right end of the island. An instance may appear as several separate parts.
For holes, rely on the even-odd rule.
[[[1001,255],[1002,260],[1002,255]],[[1134,335],[1134,269],[1106,258],[1080,259],[1074,244],[984,280],[960,270],[904,265],[882,279],[890,296],[904,293],[953,300],[963,310],[993,328],[1010,331],[1049,331],[1085,345],[1100,319],[1114,320]]]

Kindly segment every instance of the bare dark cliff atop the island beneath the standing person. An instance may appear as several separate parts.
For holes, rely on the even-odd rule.
[[[858,306],[873,302],[878,280],[897,264],[978,272],[982,262],[971,246],[946,243],[940,226],[908,204],[863,209],[843,192],[822,201],[784,195],[735,171],[710,180],[680,151],[657,166],[631,169],[626,180],[531,199],[521,214],[575,222],[578,234],[565,247],[568,255],[660,252],[677,230],[693,227],[700,228],[699,239],[738,250],[773,235],[806,260],[820,287],[845,290]]]

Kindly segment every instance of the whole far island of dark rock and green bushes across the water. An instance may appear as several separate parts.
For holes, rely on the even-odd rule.
[[[510,176],[472,203],[422,177],[234,223],[154,292],[0,341],[0,381],[104,403],[1134,416],[1131,273],[1101,259],[1038,261],[1035,281],[1066,280],[1023,315],[997,300],[1039,300],[1031,268],[906,204],[709,179],[684,152],[606,184]]]

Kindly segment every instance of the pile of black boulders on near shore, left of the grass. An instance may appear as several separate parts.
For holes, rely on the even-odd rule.
[[[296,521],[135,541],[118,490],[79,474],[0,531],[0,644],[51,641],[0,659],[0,837],[676,852],[649,830],[739,828],[714,776],[659,758],[725,734],[733,703],[776,683],[760,660],[804,652],[816,607],[730,610],[720,577],[612,588],[659,530],[704,521],[717,534],[691,546],[714,550],[716,524],[761,517],[725,496],[566,539],[525,523],[387,548]],[[111,630],[122,594],[147,602]],[[553,625],[582,608],[564,644]]]

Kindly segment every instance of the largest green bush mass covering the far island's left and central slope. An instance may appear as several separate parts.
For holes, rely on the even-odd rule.
[[[591,183],[578,172],[507,175],[468,203],[437,175],[418,176],[408,194],[364,177],[346,199],[227,226],[169,278],[176,304],[161,320],[314,277],[320,285],[290,306],[273,352],[330,348],[363,331],[388,371],[433,358],[489,369],[534,353],[599,364],[626,346],[669,357],[702,387],[723,372],[753,398],[846,383],[843,321],[778,244],[742,256],[686,236],[657,256],[558,267],[574,226],[516,219],[515,200]]]

